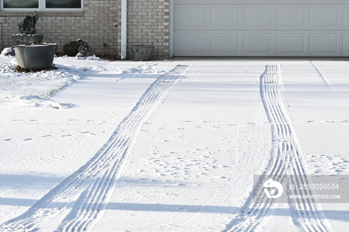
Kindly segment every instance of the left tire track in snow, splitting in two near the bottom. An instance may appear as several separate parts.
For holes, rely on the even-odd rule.
[[[160,76],[144,93],[135,108],[118,125],[108,142],[85,165],[67,177],[24,214],[0,225],[1,231],[37,231],[38,224],[61,213],[75,201],[57,231],[87,231],[103,211],[121,174],[142,123],[163,101],[188,66],[176,66]]]

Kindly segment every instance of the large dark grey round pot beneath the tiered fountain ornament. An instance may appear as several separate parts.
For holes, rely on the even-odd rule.
[[[13,48],[21,68],[38,70],[52,65],[56,44],[18,45]]]

